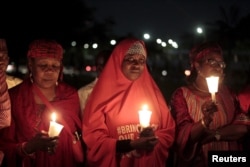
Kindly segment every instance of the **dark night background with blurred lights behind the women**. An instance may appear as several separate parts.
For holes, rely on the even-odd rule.
[[[225,82],[235,91],[248,81],[250,64],[250,5],[248,0],[1,0],[0,37],[6,38],[10,63],[25,65],[28,44],[37,38],[54,38],[64,49],[64,65],[73,69],[64,79],[79,88],[94,78],[86,72],[98,51],[109,48],[111,39],[142,38],[148,64],[167,100],[185,84],[188,51],[204,41],[221,44],[226,68]],[[201,26],[203,34],[195,28]],[[156,38],[178,43],[163,48]],[[72,46],[72,41],[77,43]],[[86,43],[98,49],[83,49]],[[162,71],[167,71],[167,76]],[[17,70],[12,75],[24,77]]]

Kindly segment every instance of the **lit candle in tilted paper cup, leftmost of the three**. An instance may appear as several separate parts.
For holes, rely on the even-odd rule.
[[[51,114],[51,121],[49,125],[49,137],[58,136],[63,128],[63,125],[56,123],[56,113]]]

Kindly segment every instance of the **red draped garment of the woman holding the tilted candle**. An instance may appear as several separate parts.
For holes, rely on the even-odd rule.
[[[33,138],[36,130],[48,131],[51,111],[45,109],[38,112],[39,107],[35,103],[29,79],[10,89],[10,97],[11,126],[1,132],[1,148],[5,152],[8,167],[21,166],[21,164],[25,167],[75,166],[72,154],[72,136],[65,129],[59,135],[59,144],[54,155],[42,151],[36,152],[32,157],[20,154],[21,143]],[[72,133],[81,129],[79,99],[75,89],[59,83],[56,88],[56,98],[51,104],[57,113],[56,122],[62,124],[60,119],[63,118]]]

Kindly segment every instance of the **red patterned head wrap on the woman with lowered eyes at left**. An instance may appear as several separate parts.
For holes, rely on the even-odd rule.
[[[28,58],[50,57],[62,60],[63,48],[54,40],[39,39],[33,41],[28,50]]]

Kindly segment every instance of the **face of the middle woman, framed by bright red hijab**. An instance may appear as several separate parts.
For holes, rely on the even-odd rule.
[[[140,54],[128,54],[122,62],[122,72],[131,81],[138,79],[145,67],[146,58]]]

